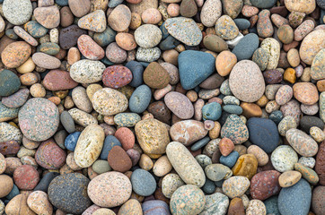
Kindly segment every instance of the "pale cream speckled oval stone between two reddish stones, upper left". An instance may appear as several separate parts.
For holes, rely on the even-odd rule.
[[[71,65],[70,76],[75,82],[99,82],[106,66],[100,61],[80,60]]]

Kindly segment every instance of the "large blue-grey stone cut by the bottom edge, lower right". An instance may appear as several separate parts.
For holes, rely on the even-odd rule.
[[[285,215],[306,215],[312,201],[312,188],[303,178],[292,186],[282,188],[277,199],[278,210]]]

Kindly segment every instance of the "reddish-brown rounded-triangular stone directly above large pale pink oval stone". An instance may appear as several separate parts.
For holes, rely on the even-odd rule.
[[[115,171],[127,172],[132,168],[132,161],[128,157],[127,152],[123,150],[120,146],[114,146],[109,153],[108,161],[110,167]]]

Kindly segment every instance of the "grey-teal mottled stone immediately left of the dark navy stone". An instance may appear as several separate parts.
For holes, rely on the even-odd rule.
[[[222,138],[227,137],[234,144],[246,142],[250,137],[247,126],[242,122],[241,117],[237,115],[227,117],[220,134]]]

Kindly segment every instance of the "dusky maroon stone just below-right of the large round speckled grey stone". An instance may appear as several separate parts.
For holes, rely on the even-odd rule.
[[[66,151],[62,150],[53,139],[49,139],[40,144],[35,159],[42,168],[58,169],[66,162]]]

